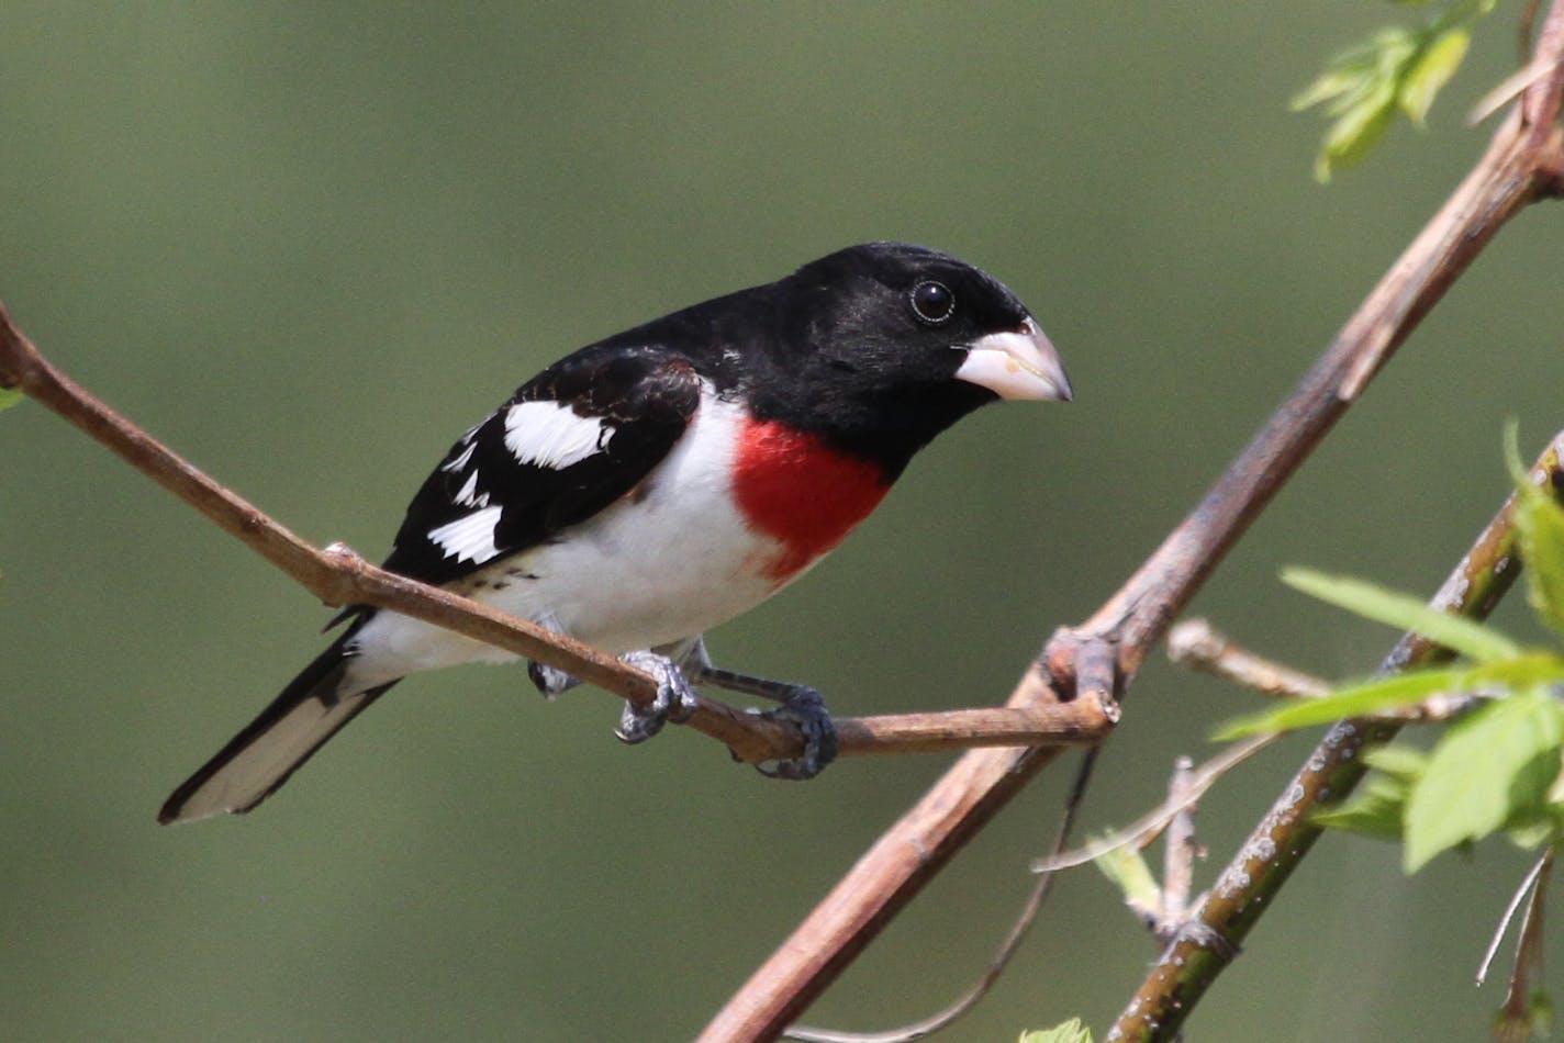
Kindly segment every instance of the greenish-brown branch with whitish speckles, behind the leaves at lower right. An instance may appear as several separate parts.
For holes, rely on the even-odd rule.
[[[1556,480],[1564,457],[1564,432],[1534,464],[1533,482],[1559,491]],[[1486,616],[1520,574],[1514,557],[1516,536],[1511,527],[1514,497],[1487,524],[1476,543],[1433,597],[1433,607],[1464,616]],[[1448,652],[1419,635],[1406,635],[1386,657],[1384,672],[1423,666]],[[1326,801],[1343,799],[1367,772],[1362,749],[1386,743],[1401,722],[1376,719],[1343,721],[1334,726],[1292,782],[1282,790],[1270,812],[1250,833],[1232,862],[1217,877],[1200,909],[1179,937],[1164,951],[1145,984],[1118,1016],[1112,1040],[1171,1040],[1189,1010],[1215,980],[1250,929],[1275,902],[1275,894],[1318,840],[1322,827],[1311,815]]]

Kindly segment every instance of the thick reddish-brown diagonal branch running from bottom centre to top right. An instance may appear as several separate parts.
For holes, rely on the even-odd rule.
[[[1526,89],[1525,119],[1512,116],[1500,128],[1469,178],[1193,513],[1092,619],[1049,640],[1007,705],[1121,694],[1228,549],[1498,228],[1528,203],[1564,192],[1555,125],[1561,53],[1564,0],[1556,0],[1537,44],[1555,72]],[[702,1043],[774,1038],[1057,754],[1034,747],[963,755],[729,999]]]

